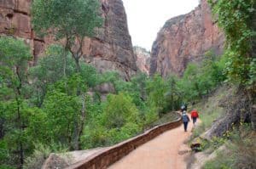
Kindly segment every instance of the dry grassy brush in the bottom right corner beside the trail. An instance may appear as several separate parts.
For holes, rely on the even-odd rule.
[[[215,149],[224,143],[225,148],[222,151],[218,150],[217,157],[207,161],[203,168],[255,168],[255,135],[249,125],[241,124],[241,127],[234,127],[233,131],[225,134],[224,138],[214,140],[212,144]]]

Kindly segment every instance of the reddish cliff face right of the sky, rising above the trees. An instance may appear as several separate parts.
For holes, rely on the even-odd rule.
[[[212,49],[221,54],[224,35],[212,21],[207,0],[189,14],[167,20],[155,40],[150,60],[150,75],[183,74],[190,61],[200,61]]]

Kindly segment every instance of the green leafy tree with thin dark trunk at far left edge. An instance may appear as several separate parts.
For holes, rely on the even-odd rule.
[[[26,150],[26,68],[32,59],[29,47],[21,40],[0,37],[0,93],[3,114],[7,127],[4,138],[8,140],[9,152],[19,168],[24,164]]]

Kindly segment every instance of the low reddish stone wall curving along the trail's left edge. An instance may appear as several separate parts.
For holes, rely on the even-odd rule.
[[[128,155],[132,150],[137,149],[138,146],[147,143],[151,139],[159,136],[172,128],[176,128],[182,124],[181,118],[177,121],[172,121],[164,125],[154,127],[135,138],[125,140],[120,144],[103,150],[102,152],[91,155],[84,161],[80,161],[67,169],[102,169],[107,168],[114,162]]]

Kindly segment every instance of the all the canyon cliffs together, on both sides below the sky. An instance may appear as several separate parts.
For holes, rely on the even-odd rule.
[[[54,43],[50,36],[44,39],[32,30],[31,0],[0,0],[0,35],[23,38],[32,48],[36,65],[44,48]],[[189,14],[166,21],[154,41],[151,54],[140,47],[132,47],[127,16],[121,0],[101,0],[102,28],[96,37],[84,38],[84,61],[104,72],[117,70],[125,80],[137,71],[148,75],[183,75],[189,62],[200,62],[203,54],[212,50],[221,54],[224,34],[212,20],[207,0]]]

